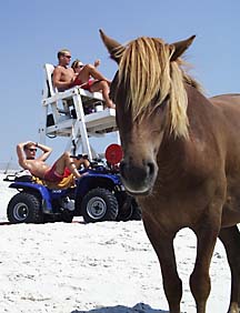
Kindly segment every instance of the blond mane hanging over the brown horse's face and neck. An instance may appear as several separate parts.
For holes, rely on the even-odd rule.
[[[173,46],[158,38],[140,37],[114,52],[120,59],[119,85],[127,92],[127,107],[133,120],[152,112],[169,99],[170,131],[188,138],[188,97],[184,83],[201,91],[200,84],[183,71],[181,59],[170,61]],[[153,103],[154,102],[154,103]],[[151,105],[149,105],[151,104]]]

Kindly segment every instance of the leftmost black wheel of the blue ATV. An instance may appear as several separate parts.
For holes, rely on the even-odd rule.
[[[10,223],[42,223],[43,215],[38,196],[27,192],[20,192],[12,196],[7,208],[7,216]]]

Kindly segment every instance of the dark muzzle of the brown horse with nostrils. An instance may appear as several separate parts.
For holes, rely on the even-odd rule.
[[[158,168],[154,162],[142,162],[141,165],[122,161],[120,173],[127,191],[133,195],[147,195],[151,193]]]

